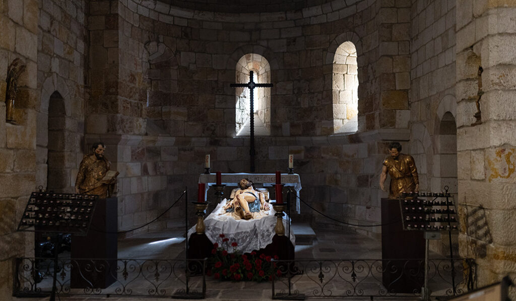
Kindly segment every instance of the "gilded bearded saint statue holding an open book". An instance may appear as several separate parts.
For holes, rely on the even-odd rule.
[[[106,146],[102,142],[92,145],[92,154],[85,155],[80,162],[75,180],[75,193],[110,197],[110,188],[115,184],[118,172],[109,170],[111,162],[104,156]]]

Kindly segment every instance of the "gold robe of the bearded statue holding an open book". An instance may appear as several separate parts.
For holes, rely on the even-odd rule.
[[[109,185],[102,182],[111,163],[105,158],[97,160],[94,154],[85,155],[80,162],[79,172],[75,180],[75,187],[80,194],[98,195],[99,198],[107,198]]]

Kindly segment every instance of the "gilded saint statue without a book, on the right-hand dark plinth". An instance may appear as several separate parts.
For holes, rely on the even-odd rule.
[[[389,144],[390,156],[383,160],[382,173],[380,174],[380,188],[386,191],[383,183],[387,179],[387,173],[391,177],[389,198],[399,197],[401,193],[419,192],[419,179],[414,158],[411,155],[402,154],[399,142]]]

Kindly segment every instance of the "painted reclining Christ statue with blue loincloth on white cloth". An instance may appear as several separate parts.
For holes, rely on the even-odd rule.
[[[270,204],[265,201],[265,194],[257,191],[249,179],[241,179],[232,200],[224,207],[225,212],[232,213],[235,219],[259,219],[268,215]],[[225,213],[222,213],[225,214]]]

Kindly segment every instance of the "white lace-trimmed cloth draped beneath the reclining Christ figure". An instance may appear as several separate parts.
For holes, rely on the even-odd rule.
[[[270,206],[269,215],[264,216],[260,219],[234,219],[231,214],[224,214],[222,207],[226,204],[226,199],[223,199],[217,207],[204,219],[204,225],[206,227],[205,234],[209,241],[212,243],[218,243],[221,245],[220,234],[224,234],[229,239],[229,245],[236,242],[238,244],[237,249],[243,253],[249,253],[253,250],[259,250],[265,248],[268,244],[272,243],[272,237],[276,234],[274,227],[278,218],[274,216],[276,211]],[[223,215],[219,215],[219,214]],[[290,218],[283,215],[283,227],[285,227],[285,235],[287,234],[287,223]],[[195,233],[195,226],[188,230],[188,238],[192,233]],[[296,237],[294,232],[290,231],[290,240],[292,244],[296,245]],[[232,251],[231,247],[228,250]]]

